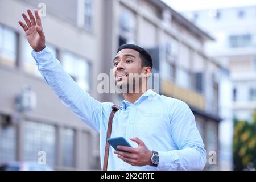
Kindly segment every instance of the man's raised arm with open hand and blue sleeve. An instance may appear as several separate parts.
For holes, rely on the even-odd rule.
[[[96,131],[100,130],[102,122],[109,117],[112,103],[98,102],[91,97],[85,90],[82,90],[71,76],[68,75],[49,48],[46,46],[45,36],[38,11],[35,10],[34,18],[31,10],[27,10],[30,19],[26,14],[22,16],[26,24],[19,21],[20,26],[26,33],[28,43],[34,49],[34,57],[38,69],[44,80],[56,93],[57,97],[65,106],[73,111],[85,123]]]

